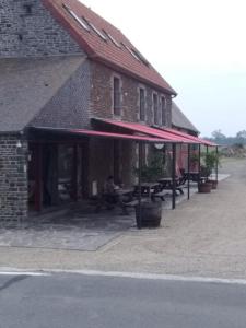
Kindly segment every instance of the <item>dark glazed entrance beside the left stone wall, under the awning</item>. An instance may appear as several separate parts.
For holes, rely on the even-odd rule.
[[[28,148],[31,211],[66,206],[86,195],[83,144],[37,143]],[[85,162],[85,163],[84,163]]]

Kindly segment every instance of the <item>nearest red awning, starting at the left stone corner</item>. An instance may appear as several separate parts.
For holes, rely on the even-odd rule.
[[[143,142],[153,142],[153,143],[171,143],[171,140],[165,140],[162,138],[152,138],[149,136],[134,136],[134,134],[125,134],[125,133],[113,133],[86,129],[60,129],[60,128],[49,128],[49,127],[38,127],[30,128],[33,131],[45,131],[52,133],[66,133],[70,136],[85,136],[85,137],[97,137],[97,138],[110,138],[110,139],[125,139],[133,141],[143,141]]]

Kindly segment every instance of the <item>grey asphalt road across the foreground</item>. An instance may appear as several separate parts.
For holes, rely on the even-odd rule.
[[[1,328],[245,328],[246,285],[0,276]]]

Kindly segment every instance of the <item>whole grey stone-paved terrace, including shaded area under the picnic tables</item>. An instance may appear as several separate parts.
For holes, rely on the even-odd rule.
[[[196,194],[191,185],[190,196]],[[167,191],[168,192],[168,191]],[[187,189],[176,197],[176,203],[187,201]],[[163,212],[172,210],[172,194],[162,202]],[[5,223],[0,227],[0,246],[33,247],[70,250],[97,250],[128,231],[137,231],[134,210],[121,215],[120,209],[94,213],[82,204],[67,214],[37,215],[24,223]]]

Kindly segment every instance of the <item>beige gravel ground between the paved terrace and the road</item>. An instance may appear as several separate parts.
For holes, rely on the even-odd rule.
[[[0,267],[246,279],[245,166],[226,160],[218,190],[165,211],[161,229],[127,231],[95,251],[0,247]]]

